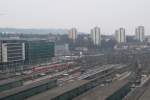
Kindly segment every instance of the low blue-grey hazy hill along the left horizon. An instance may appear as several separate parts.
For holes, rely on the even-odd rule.
[[[23,29],[23,28],[0,28],[5,33],[26,33],[26,34],[67,34],[65,29]]]

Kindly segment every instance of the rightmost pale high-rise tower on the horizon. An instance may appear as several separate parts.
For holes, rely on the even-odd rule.
[[[143,42],[144,41],[144,34],[145,34],[144,26],[138,26],[135,29],[136,40]]]

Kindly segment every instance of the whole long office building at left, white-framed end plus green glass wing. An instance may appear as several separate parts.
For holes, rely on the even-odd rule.
[[[0,40],[0,72],[21,71],[52,57],[54,43],[47,40]]]

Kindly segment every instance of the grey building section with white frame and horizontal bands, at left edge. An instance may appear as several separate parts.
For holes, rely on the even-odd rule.
[[[25,60],[25,45],[19,40],[0,40],[0,70],[21,70]]]

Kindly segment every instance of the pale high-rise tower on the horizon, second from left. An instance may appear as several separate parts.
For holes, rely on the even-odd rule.
[[[91,39],[94,45],[101,44],[101,34],[99,27],[94,27],[93,29],[91,29]]]

